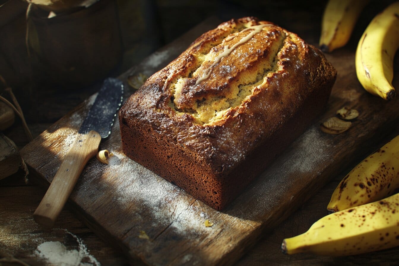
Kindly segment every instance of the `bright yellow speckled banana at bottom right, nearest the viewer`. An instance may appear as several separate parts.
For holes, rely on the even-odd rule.
[[[399,193],[323,217],[303,234],[283,240],[286,254],[348,256],[399,246]]]

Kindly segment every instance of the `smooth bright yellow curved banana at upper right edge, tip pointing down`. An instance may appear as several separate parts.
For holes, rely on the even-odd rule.
[[[385,100],[392,86],[393,57],[399,47],[399,2],[385,8],[367,26],[356,49],[356,74],[363,88]]]

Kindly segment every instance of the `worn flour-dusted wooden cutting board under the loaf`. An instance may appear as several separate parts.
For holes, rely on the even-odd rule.
[[[178,56],[200,33],[217,24],[207,20],[120,76],[125,82],[125,99],[132,93],[127,77],[151,75]],[[115,156],[109,165],[95,159],[89,161],[70,197],[70,206],[93,231],[122,249],[132,262],[235,262],[262,234],[288,217],[397,122],[397,100],[386,102],[373,97],[359,85],[353,49],[340,49],[327,58],[336,67],[338,77],[325,113],[225,211],[211,209],[124,156],[118,122],[100,146]],[[32,178],[49,185],[94,99],[95,95],[21,150]],[[320,121],[334,116],[344,106],[360,113],[352,128],[339,135],[321,132]],[[206,219],[214,223],[213,227],[204,226]]]

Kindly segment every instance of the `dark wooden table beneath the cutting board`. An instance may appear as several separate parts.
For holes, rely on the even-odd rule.
[[[289,3],[289,1],[284,1],[283,3],[285,6],[288,6],[287,3]],[[200,6],[198,3],[197,5]],[[178,8],[174,8],[172,4],[164,4],[163,6],[160,4],[159,6],[158,11],[162,11],[162,14],[158,19],[161,20],[164,41],[168,42],[173,37],[180,35],[172,28],[174,25],[178,25],[177,23],[179,21],[182,23],[182,18],[173,16],[178,13],[178,11],[176,11]],[[193,11],[194,8],[198,6],[193,4],[192,6],[188,6],[188,8],[191,8],[189,10]],[[320,30],[319,21],[323,4],[298,10],[295,9],[297,6],[293,6],[292,8],[286,7],[282,12],[278,12],[281,8],[278,4],[265,11],[251,8],[250,3],[247,5],[243,4],[243,6],[246,8],[244,10],[245,12],[251,12],[250,14],[259,16],[262,19],[277,22],[293,32],[302,32],[305,35],[303,37],[306,41],[317,43]],[[358,28],[365,28],[365,25],[368,23],[367,20],[369,21],[373,12],[376,12],[375,10],[378,9],[375,8],[376,6],[381,9],[380,4],[374,2],[373,5],[366,10],[369,15],[366,14],[361,17],[363,21],[358,23]],[[206,15],[216,14],[218,10],[220,11],[218,8],[223,8],[223,5],[219,4],[216,7],[209,8],[211,11],[208,10]],[[229,8],[228,10],[224,10],[225,12],[220,16],[221,19],[228,16],[238,17],[244,15],[243,10],[235,10],[231,8],[231,5],[229,5]],[[263,8],[265,8],[265,6],[263,6]],[[174,18],[166,18],[164,14],[166,11],[169,11],[169,14],[172,15],[171,17]],[[246,15],[248,15],[248,13]],[[187,20],[187,25],[180,25],[177,27],[179,30],[187,30],[203,18],[205,17],[196,13],[191,20]],[[355,47],[356,39],[358,39],[360,35],[361,30],[355,32],[349,45]],[[147,51],[147,53],[149,53],[149,51]],[[134,62],[137,61],[137,58],[140,56],[142,57],[143,55],[135,54],[134,48],[132,48],[126,51],[124,61]],[[122,67],[122,69],[117,70],[117,73],[114,73],[114,75],[117,76],[124,70],[126,69]],[[87,97],[92,95],[97,89],[98,84],[80,91],[68,91],[57,87],[35,87],[33,88],[34,93],[32,94],[31,90],[30,94],[30,96],[34,96],[27,97],[26,95],[28,94],[24,93],[21,89],[18,91],[17,88],[16,94],[19,96],[19,100],[26,114],[28,126],[35,137],[55,122],[55,120],[64,116],[74,106],[87,99]],[[20,148],[28,143],[19,120],[17,120],[11,128],[6,130],[4,134],[12,138]],[[379,148],[379,146],[382,146],[385,142],[398,134],[399,126],[391,128],[389,132],[386,132],[385,136],[381,138],[378,144],[365,147],[362,156],[351,158],[350,167],[341,169],[341,172],[337,172],[336,175],[332,177],[332,181],[323,189],[317,191],[313,197],[305,202],[300,209],[290,215],[286,221],[281,223],[273,231],[262,236],[261,240],[252,246],[249,252],[243,256],[236,265],[398,265],[399,248],[338,258],[320,257],[309,254],[288,256],[282,254],[280,251],[280,244],[283,238],[305,232],[312,223],[327,214],[326,206],[330,200],[332,191],[334,191],[340,179],[342,179],[352,167],[358,164],[358,162],[373,150]],[[109,243],[104,242],[82,224],[69,210],[68,206],[61,212],[55,225],[57,229],[46,230],[39,227],[34,222],[32,214],[44,193],[44,189],[32,181],[26,183],[22,170],[6,179],[0,180],[0,258],[11,258],[12,256],[29,265],[50,265],[45,260],[40,259],[35,253],[38,245],[47,241],[59,241],[65,245],[68,250],[77,250],[79,243],[72,236],[74,235],[81,240],[81,243],[87,247],[87,252],[94,256],[101,265],[129,265],[128,260],[120,250],[112,248]],[[16,262],[0,261],[0,265],[17,264]],[[134,265],[140,265],[140,262],[134,263]]]

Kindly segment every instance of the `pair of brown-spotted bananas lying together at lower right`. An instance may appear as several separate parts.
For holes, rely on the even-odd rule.
[[[385,198],[398,188],[399,136],[350,171],[328,204],[335,213],[284,239],[283,252],[347,256],[399,246],[399,193]]]

